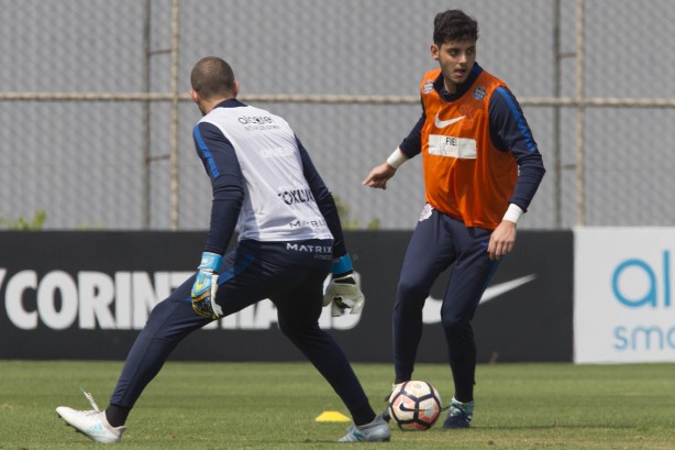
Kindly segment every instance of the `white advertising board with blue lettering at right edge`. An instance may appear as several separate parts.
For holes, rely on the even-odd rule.
[[[675,361],[675,228],[574,234],[574,361]]]

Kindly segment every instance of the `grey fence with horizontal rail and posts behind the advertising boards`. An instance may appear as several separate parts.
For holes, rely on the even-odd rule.
[[[285,117],[350,219],[411,229],[420,158],[361,185],[421,111],[436,12],[478,20],[547,174],[523,228],[672,226],[672,0],[0,0],[0,229],[203,229],[187,96],[202,56]]]

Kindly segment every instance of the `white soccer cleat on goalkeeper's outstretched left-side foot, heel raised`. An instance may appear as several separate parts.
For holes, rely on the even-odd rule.
[[[67,406],[56,408],[56,414],[66,421],[67,425],[75,428],[89,439],[100,443],[114,443],[122,441],[122,433],[126,427],[114,428],[108,424],[106,411],[99,410],[93,397],[85,389],[80,388],[82,394],[91,403],[91,410],[77,410]]]

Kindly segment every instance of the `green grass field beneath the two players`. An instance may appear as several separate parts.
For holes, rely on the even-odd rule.
[[[0,449],[98,447],[66,427],[59,405],[101,407],[121,362],[0,361]],[[387,364],[354,364],[376,410],[390,387]],[[418,365],[416,377],[452,396],[444,365]],[[395,429],[391,442],[338,443],[346,414],[308,363],[168,362],[145,391],[115,448],[133,449],[673,449],[675,365],[491,364],[477,371],[469,430]]]

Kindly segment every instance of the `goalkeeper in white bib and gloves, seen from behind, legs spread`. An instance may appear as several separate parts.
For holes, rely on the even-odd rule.
[[[319,327],[322,304],[331,305],[333,316],[358,314],[364,305],[333,197],[288,123],[236,99],[239,83],[226,62],[199,61],[190,81],[203,114],[193,130],[195,145],[213,191],[198,271],[153,309],[106,410],[87,394],[93,410],[62,406],[57,413],[95,441],[119,442],[141,393],[186,336],[269,298],[281,332],[353,417],[340,440],[389,440],[388,424],[370,407],[343,351]],[[237,245],[225,254],[235,228]]]

